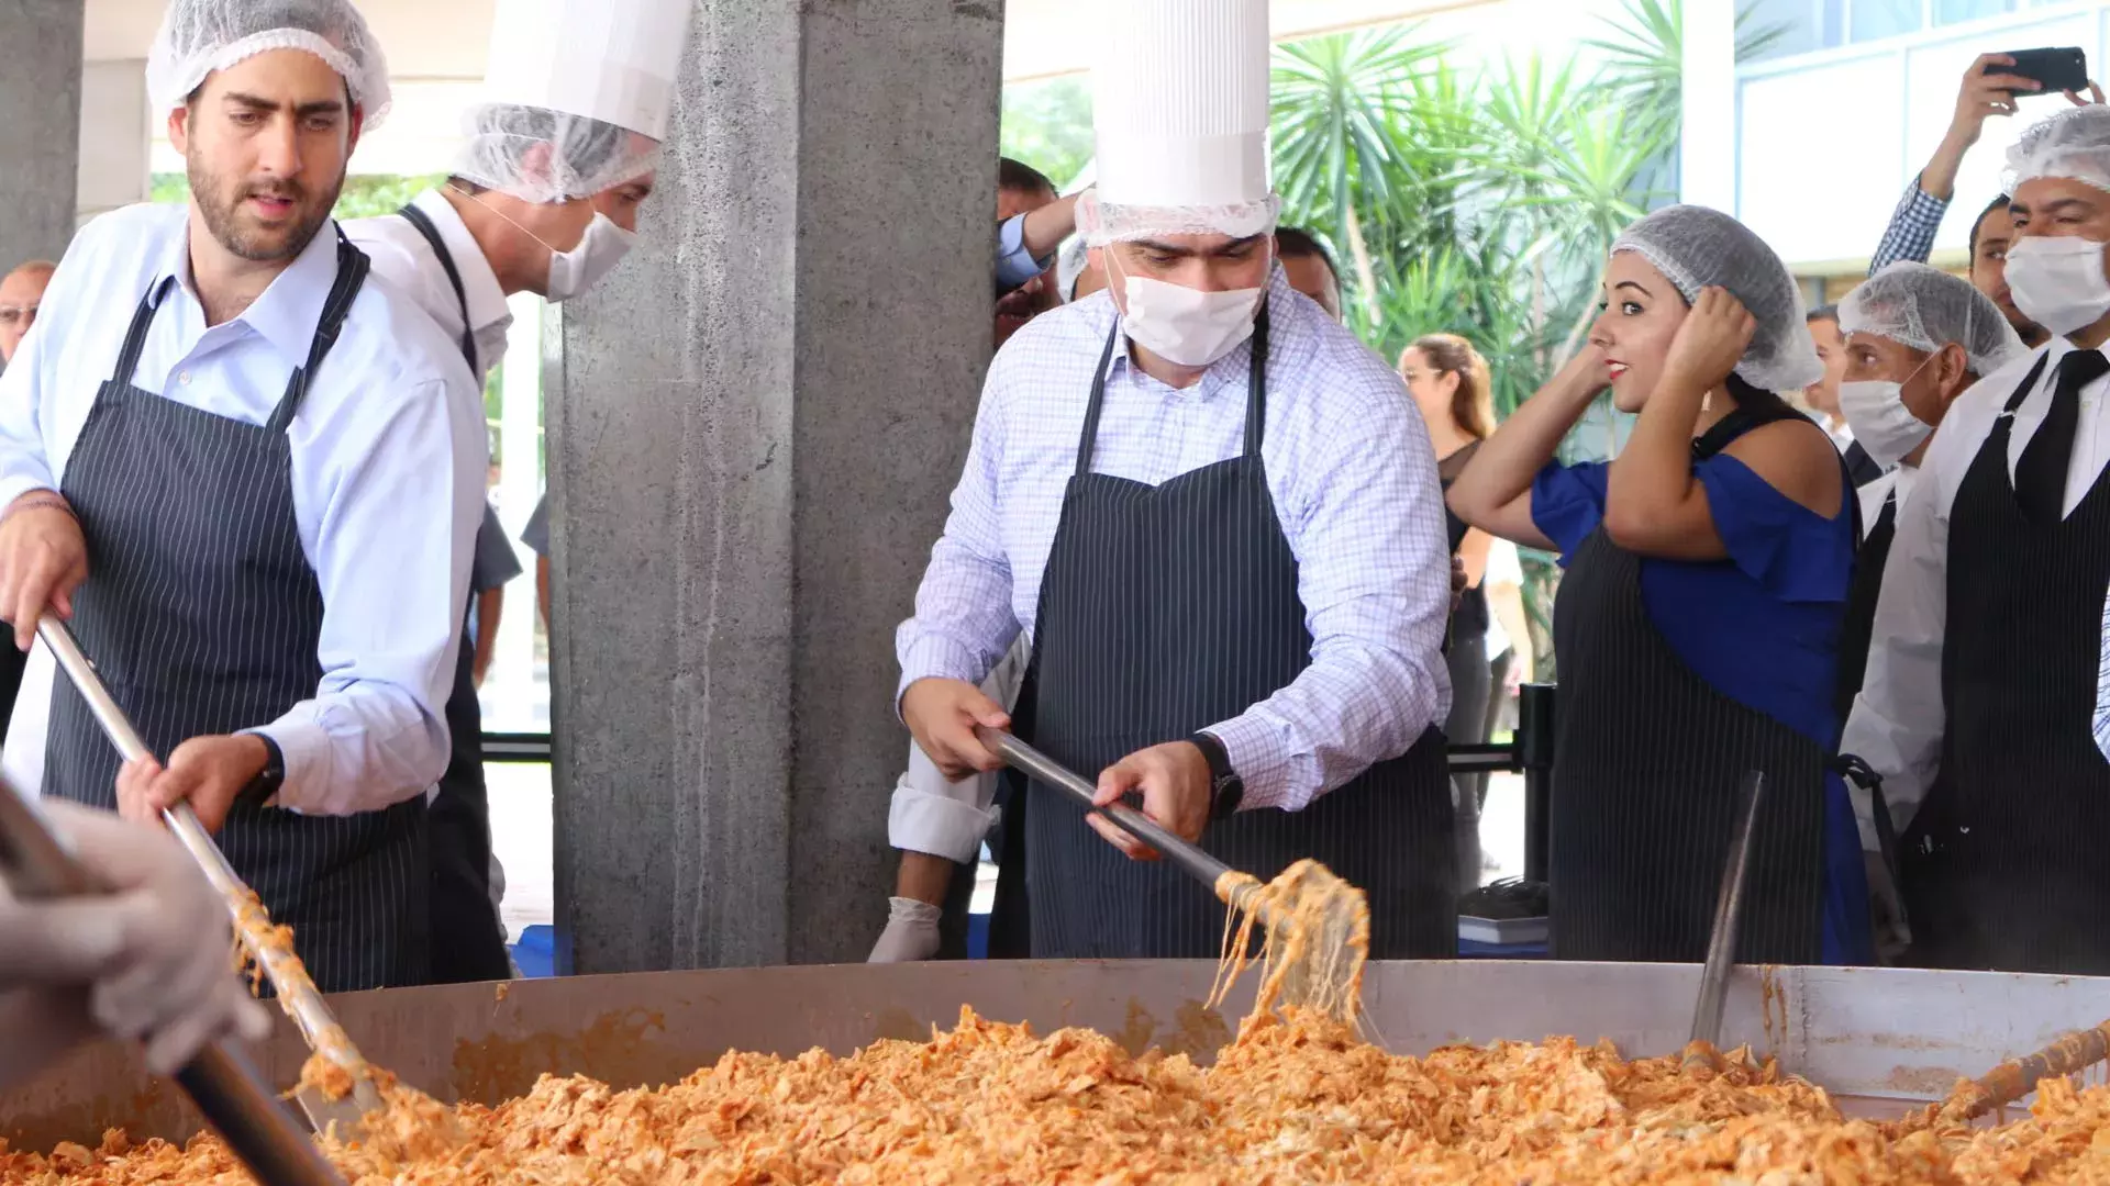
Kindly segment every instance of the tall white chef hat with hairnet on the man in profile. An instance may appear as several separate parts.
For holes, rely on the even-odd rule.
[[[692,0],[498,0],[483,99],[454,173],[530,203],[658,162]]]

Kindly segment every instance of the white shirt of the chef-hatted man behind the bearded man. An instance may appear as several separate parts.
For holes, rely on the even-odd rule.
[[[498,359],[506,355],[506,329],[513,327],[513,310],[506,308],[506,291],[498,287],[498,272],[494,272],[492,262],[483,257],[483,247],[479,247],[477,238],[468,234],[468,224],[464,224],[462,215],[454,211],[454,203],[447,200],[447,194],[426,190],[409,205],[418,207],[433,219],[433,230],[437,230],[439,241],[447,245],[447,255],[454,257],[454,270],[462,276],[462,295],[468,300],[468,321],[477,346],[477,382],[481,384],[490,378]],[[399,213],[384,213],[346,222],[344,236],[367,253],[367,260],[373,262],[373,272],[378,276],[386,276],[390,285],[418,302],[418,308],[439,323],[447,340],[456,342],[456,352],[460,352],[462,302],[454,295],[454,283],[447,281],[447,268],[439,264],[439,255],[435,255],[433,245],[418,234],[418,228]],[[481,416],[481,386],[477,388],[477,409]]]

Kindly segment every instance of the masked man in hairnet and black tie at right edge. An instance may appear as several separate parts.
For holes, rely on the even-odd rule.
[[[1926,447],[1840,749],[1882,777],[1910,962],[2106,975],[2110,108],[2028,129],[2009,171],[2007,283],[2051,340],[1956,399]]]

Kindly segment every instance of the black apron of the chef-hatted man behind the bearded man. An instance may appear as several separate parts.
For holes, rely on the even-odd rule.
[[[433,247],[439,266],[447,270],[454,300],[462,306],[462,359],[468,374],[477,367],[477,336],[468,323],[468,291],[454,266],[439,228],[418,207],[397,211]],[[454,663],[454,692],[447,694],[447,734],[454,751],[447,772],[439,777],[439,796],[430,817],[430,905],[433,905],[433,983],[466,983],[506,979],[513,962],[506,958],[506,931],[492,907],[492,802],[483,787],[483,705],[477,701],[477,648],[468,639],[468,612],[477,593],[471,589],[462,610],[462,646]]]

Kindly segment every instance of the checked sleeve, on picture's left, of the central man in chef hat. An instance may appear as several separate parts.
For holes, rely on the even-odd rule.
[[[945,534],[931,547],[931,566],[916,589],[916,616],[895,631],[901,692],[928,677],[979,684],[1019,635],[1011,608],[1011,561],[1004,555],[1000,471],[1004,439],[1006,359],[998,355],[975,414],[966,466],[952,492]]]

